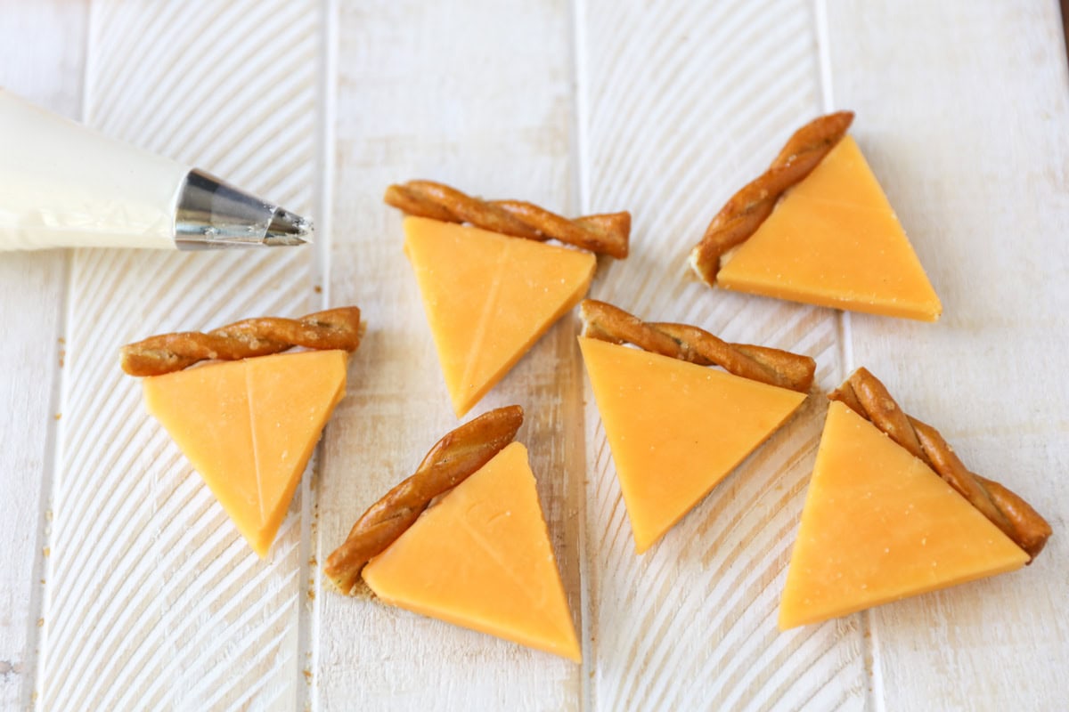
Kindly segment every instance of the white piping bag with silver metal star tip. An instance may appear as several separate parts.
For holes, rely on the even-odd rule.
[[[311,221],[0,89],[0,252],[293,246]]]

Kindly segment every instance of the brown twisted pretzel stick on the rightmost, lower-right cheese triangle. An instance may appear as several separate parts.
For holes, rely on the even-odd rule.
[[[998,482],[970,472],[939,430],[903,413],[876,376],[858,368],[827,397],[841,401],[920,458],[1029,556],[1035,558],[1042,551],[1051,536],[1047,520]]]

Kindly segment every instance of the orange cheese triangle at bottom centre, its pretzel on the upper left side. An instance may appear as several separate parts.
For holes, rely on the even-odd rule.
[[[512,443],[363,568],[392,605],[579,662],[527,448]]]

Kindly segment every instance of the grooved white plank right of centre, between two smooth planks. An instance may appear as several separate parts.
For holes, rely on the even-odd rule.
[[[731,193],[823,109],[804,1],[579,3],[584,210],[629,208],[634,249],[600,299],[650,319],[808,353],[842,376],[830,310],[710,290],[684,260]],[[861,709],[861,619],[780,633],[779,591],[825,401],[802,412],[652,550],[634,554],[587,395],[592,707]]]

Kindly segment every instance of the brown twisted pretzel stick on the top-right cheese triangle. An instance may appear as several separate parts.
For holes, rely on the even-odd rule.
[[[852,111],[839,111],[809,122],[787,141],[768,171],[731,196],[691,251],[691,268],[702,282],[713,286],[724,253],[757,232],[784,191],[817,168],[853,120]]]

